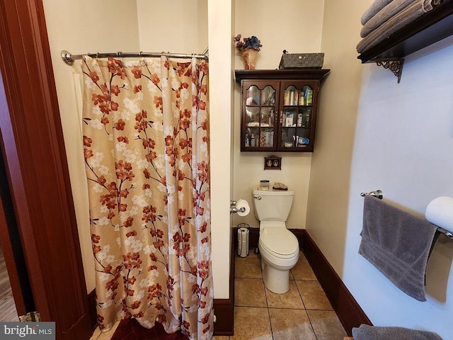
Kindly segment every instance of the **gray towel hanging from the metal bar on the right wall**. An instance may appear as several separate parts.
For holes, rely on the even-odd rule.
[[[437,225],[372,196],[365,196],[359,254],[396,287],[426,301],[425,272]]]

